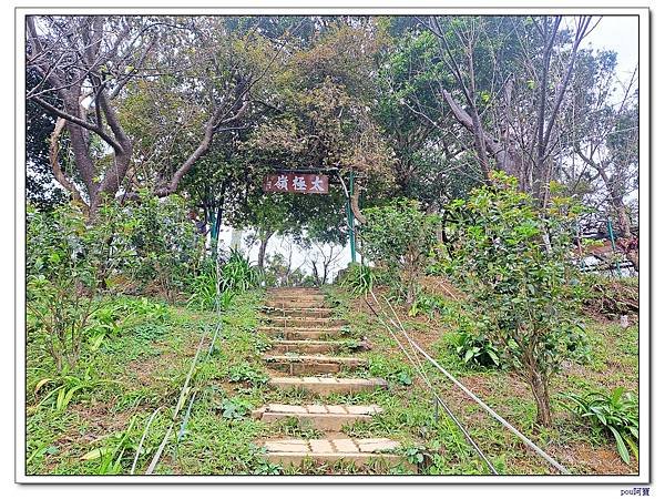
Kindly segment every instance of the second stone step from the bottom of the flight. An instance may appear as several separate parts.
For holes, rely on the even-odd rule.
[[[303,427],[316,428],[321,431],[340,431],[344,425],[354,421],[367,421],[382,409],[371,406],[328,406],[305,405],[291,406],[285,404],[268,404],[252,411],[252,416],[266,422],[285,418],[295,418]]]

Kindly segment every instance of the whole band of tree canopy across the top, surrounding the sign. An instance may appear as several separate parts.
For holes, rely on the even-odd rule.
[[[94,220],[113,197],[178,193],[213,240],[233,225],[344,243],[350,172],[362,223],[392,197],[441,213],[502,170],[543,206],[563,184],[589,226],[611,216],[628,236],[636,77],[583,47],[598,22],[29,17],[29,197],[69,194]],[[327,172],[330,194],[266,194],[276,170]]]

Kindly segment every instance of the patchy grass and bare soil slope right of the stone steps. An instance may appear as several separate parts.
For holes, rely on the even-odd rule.
[[[335,293],[342,292],[336,289]],[[371,312],[364,306],[362,301],[356,301],[354,304],[347,306],[349,310],[354,310],[347,317],[362,325],[364,334],[374,345],[370,359],[380,359],[380,364],[385,366],[381,375],[388,379],[392,375],[392,383],[389,394],[379,401],[387,408],[385,414],[369,424],[359,424],[351,430],[358,435],[383,432],[387,436],[392,431],[391,435],[395,436],[396,432],[401,432],[402,439],[426,442],[427,454],[432,454],[430,447],[436,447],[443,441],[446,451],[433,454],[431,459],[426,459],[426,465],[430,465],[426,468],[426,472],[487,472],[459,429],[451,426],[449,418],[440,416],[439,420],[450,429],[442,430],[432,424],[431,396],[427,395],[428,391],[417,379],[418,376],[412,386],[405,387],[400,393],[398,384],[395,383],[397,366],[401,361],[407,373],[412,373],[412,367],[406,363],[403,354],[381,325],[375,323],[372,328]],[[610,439],[593,432],[589,426],[564,410],[557,403],[559,394],[565,391],[611,390],[616,386],[625,386],[626,389],[637,393],[637,326],[623,329],[606,320],[584,317],[590,359],[569,361],[554,377],[551,388],[555,413],[554,425],[543,430],[535,426],[535,405],[530,389],[514,373],[464,365],[451,348],[450,332],[457,326],[460,312],[458,303],[446,301],[446,307],[433,319],[424,319],[421,316],[408,317],[406,312],[406,309],[399,310],[400,318],[416,342],[432,354],[453,376],[572,472],[600,475],[637,472],[636,462],[632,462],[631,466],[624,465]],[[361,317],[362,315],[365,318]],[[388,365],[390,368],[387,367]],[[535,454],[529,451],[516,437],[489,417],[458,388],[446,381],[442,375],[432,369],[427,371],[434,380],[443,400],[500,471],[513,475],[554,472]],[[393,396],[395,406],[390,400]],[[405,399],[408,399],[406,410]],[[442,410],[439,413],[441,415]],[[427,435],[427,438],[422,438],[422,435]],[[451,449],[454,451],[451,452]]]

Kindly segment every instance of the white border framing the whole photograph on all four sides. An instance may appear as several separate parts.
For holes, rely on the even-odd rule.
[[[390,4],[392,2],[386,2]],[[567,3],[567,2],[566,2]],[[640,472],[636,476],[33,476],[25,475],[25,208],[24,208],[24,18],[30,14],[219,14],[219,16],[287,16],[287,14],[357,14],[357,16],[410,16],[410,14],[563,14],[563,16],[637,16],[638,17],[638,58],[640,67],[640,221],[642,223],[640,256],[642,265],[640,278],[640,428],[644,438],[640,442]],[[520,7],[520,8],[131,8],[117,7],[63,7],[35,8],[17,7],[14,14],[16,34],[16,144],[14,144],[14,185],[16,185],[16,304],[14,304],[14,355],[16,355],[16,388],[14,388],[14,479],[20,483],[590,483],[590,485],[646,485],[651,482],[651,458],[653,438],[649,420],[652,414],[651,396],[651,32],[648,8],[570,8],[570,7]],[[644,305],[647,306],[644,306]]]

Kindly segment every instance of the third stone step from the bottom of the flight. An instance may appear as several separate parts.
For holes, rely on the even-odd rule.
[[[388,388],[388,383],[381,378],[332,378],[332,377],[272,377],[268,386],[282,390],[303,390],[308,394],[354,395],[364,391],[375,391]]]

